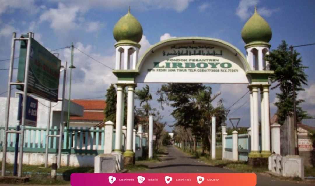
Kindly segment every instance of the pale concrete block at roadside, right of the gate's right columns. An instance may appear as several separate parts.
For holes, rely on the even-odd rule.
[[[304,179],[304,159],[298,155],[282,157],[282,176]]]

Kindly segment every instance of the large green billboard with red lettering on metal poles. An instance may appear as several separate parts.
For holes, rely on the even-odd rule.
[[[28,37],[28,35],[22,35]],[[18,82],[24,82],[27,41],[21,41]],[[30,63],[28,71],[27,93],[33,93],[53,102],[58,101],[58,88],[61,61],[36,40],[31,38]],[[23,90],[18,85],[17,89]]]

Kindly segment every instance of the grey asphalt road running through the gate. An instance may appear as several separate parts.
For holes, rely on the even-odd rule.
[[[239,173],[229,169],[209,166],[198,159],[190,157],[174,146],[168,146],[162,162],[143,163],[149,167],[139,173]],[[133,172],[137,173],[137,172]],[[256,173],[258,186],[310,186],[315,182],[303,181],[303,183],[283,181],[272,177],[267,173]]]

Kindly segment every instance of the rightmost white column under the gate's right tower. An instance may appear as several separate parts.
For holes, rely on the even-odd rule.
[[[263,85],[263,94],[264,94],[264,141],[265,141],[265,149],[263,149],[264,154],[266,157],[271,155],[270,152],[270,113],[269,113],[269,86],[270,85]],[[279,140],[280,141],[280,140]]]

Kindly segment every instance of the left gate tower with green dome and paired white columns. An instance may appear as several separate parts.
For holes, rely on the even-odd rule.
[[[133,151],[133,130],[134,130],[134,94],[135,77],[139,74],[136,69],[140,49],[140,40],[142,38],[142,26],[139,21],[130,13],[118,20],[114,26],[113,35],[117,43],[116,64],[113,73],[117,76],[117,104],[116,104],[116,135],[114,154],[118,157],[119,169],[122,170],[125,165],[135,162],[135,152]],[[127,132],[126,145],[122,149],[122,127],[124,123],[124,95],[125,88],[128,88],[127,99]]]

